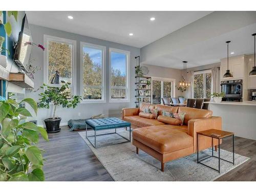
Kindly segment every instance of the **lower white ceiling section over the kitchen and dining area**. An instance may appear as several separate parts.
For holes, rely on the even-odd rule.
[[[182,61],[188,61],[187,67],[193,68],[211,63],[220,62],[227,57],[227,40],[230,40],[229,56],[253,54],[254,39],[251,34],[256,32],[256,24],[222,34],[218,37],[187,46],[184,49],[175,50],[168,55],[163,55],[147,61],[148,65],[162,66],[175,69],[183,69]]]

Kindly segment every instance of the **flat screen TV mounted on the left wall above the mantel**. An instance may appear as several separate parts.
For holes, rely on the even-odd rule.
[[[30,62],[30,55],[32,49],[32,36],[29,29],[29,23],[25,14],[22,21],[22,30],[18,35],[18,42],[15,48],[14,61],[17,66],[25,72],[28,72],[26,66]]]

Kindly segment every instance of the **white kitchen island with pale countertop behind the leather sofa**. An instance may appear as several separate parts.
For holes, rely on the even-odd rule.
[[[222,117],[222,129],[236,136],[256,140],[256,102],[222,101],[209,103],[214,116]]]

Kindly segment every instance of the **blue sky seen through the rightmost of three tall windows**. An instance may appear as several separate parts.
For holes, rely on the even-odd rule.
[[[111,67],[121,71],[121,75],[126,75],[126,55],[124,53],[111,52]]]

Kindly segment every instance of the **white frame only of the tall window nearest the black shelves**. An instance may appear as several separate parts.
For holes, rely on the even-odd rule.
[[[125,87],[117,87],[111,86],[111,53],[123,53],[126,55],[126,86]],[[109,102],[130,102],[130,51],[125,51],[121,49],[109,48]],[[111,89],[125,89],[126,90],[126,98],[125,99],[112,99]]]

